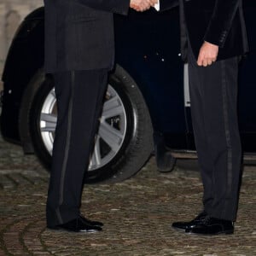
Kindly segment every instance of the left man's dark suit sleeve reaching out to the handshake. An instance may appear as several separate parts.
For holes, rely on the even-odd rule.
[[[92,9],[98,9],[115,13],[119,15],[127,15],[130,8],[130,0],[65,0],[74,3],[84,4]]]

